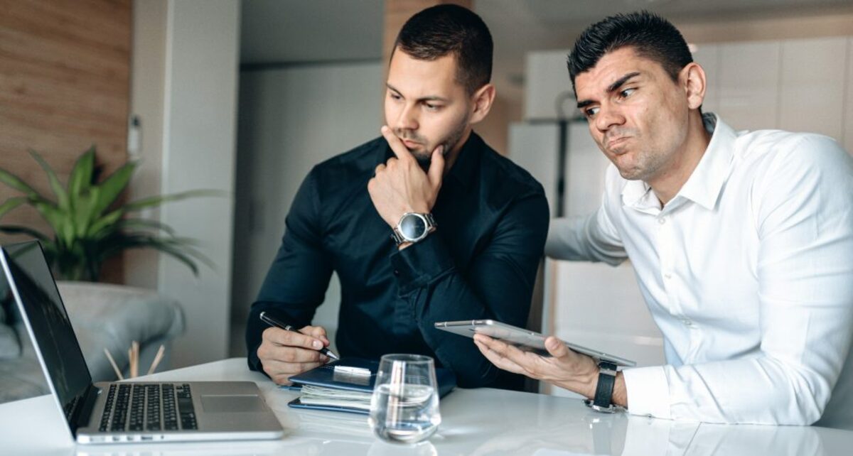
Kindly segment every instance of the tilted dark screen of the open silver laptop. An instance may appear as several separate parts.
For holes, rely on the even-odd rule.
[[[92,378],[41,245],[38,242],[7,245],[3,246],[3,253],[8,268],[6,274],[0,274],[0,300],[5,309],[15,309],[15,296],[9,283],[4,283],[10,274],[8,279],[20,295],[32,328],[33,344],[41,353],[44,368],[49,372],[48,380],[54,385],[66,418],[70,419]]]

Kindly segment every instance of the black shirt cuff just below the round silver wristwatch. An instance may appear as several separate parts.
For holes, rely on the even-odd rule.
[[[406,293],[427,286],[452,269],[454,263],[450,251],[437,231],[421,242],[392,253],[391,265],[399,280],[400,292]]]

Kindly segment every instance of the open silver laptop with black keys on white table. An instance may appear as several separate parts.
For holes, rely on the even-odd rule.
[[[98,382],[38,241],[0,248],[0,303],[17,303],[59,412],[79,443],[278,439],[252,382]]]

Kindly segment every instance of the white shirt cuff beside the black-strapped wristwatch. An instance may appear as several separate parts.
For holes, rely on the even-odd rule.
[[[670,384],[664,367],[638,367],[624,369],[625,391],[628,394],[628,412],[671,419]]]

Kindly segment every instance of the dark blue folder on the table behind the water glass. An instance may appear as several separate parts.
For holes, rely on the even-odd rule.
[[[368,369],[369,375],[351,374],[345,372],[335,372],[335,366],[357,367],[360,369]],[[301,387],[305,384],[314,386],[322,386],[323,388],[334,388],[337,390],[351,390],[371,393],[374,389],[376,381],[376,372],[379,371],[379,361],[365,360],[362,358],[342,358],[339,361],[333,361],[324,364],[321,367],[316,367],[307,372],[294,375],[290,378],[294,386]],[[456,387],[456,375],[450,372],[450,369],[437,367],[435,369],[435,378],[438,382],[438,397],[444,397]],[[289,407],[294,408],[310,408],[312,410],[332,410],[335,412],[360,413],[368,414],[367,410],[352,408],[352,407],[337,407],[321,404],[303,404],[299,398],[287,403]]]

